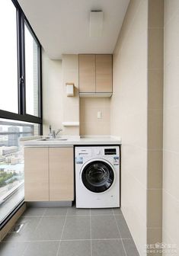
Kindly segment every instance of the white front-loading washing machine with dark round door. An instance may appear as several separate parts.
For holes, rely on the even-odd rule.
[[[120,146],[75,146],[77,208],[120,207]]]

